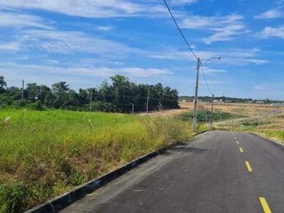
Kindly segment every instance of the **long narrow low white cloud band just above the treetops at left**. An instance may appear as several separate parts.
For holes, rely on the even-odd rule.
[[[89,77],[110,77],[111,75],[121,74],[129,77],[153,77],[158,75],[173,75],[169,70],[143,69],[139,67],[126,67],[111,69],[108,67],[55,67],[45,65],[19,65],[16,63],[0,63],[1,73],[4,70],[9,72],[22,72],[28,70],[34,75],[79,75]]]

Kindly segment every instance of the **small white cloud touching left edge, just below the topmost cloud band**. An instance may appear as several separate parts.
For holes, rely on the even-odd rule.
[[[38,16],[26,15],[17,12],[0,12],[0,27],[33,27],[52,29],[51,26],[45,25],[43,19]]]

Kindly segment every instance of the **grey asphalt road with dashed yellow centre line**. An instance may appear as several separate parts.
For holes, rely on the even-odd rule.
[[[207,132],[62,212],[284,212],[283,163],[263,138]]]

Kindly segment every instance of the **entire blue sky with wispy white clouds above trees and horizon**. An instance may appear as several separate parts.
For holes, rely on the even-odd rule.
[[[209,89],[200,72],[200,95],[284,99],[284,0],[168,4],[203,62]],[[119,74],[192,96],[196,65],[163,0],[0,0],[8,86],[98,87]]]

